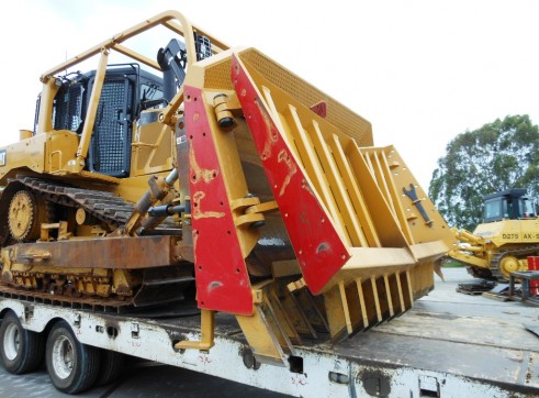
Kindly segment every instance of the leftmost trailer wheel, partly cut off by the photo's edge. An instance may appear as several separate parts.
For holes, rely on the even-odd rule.
[[[13,311],[0,327],[0,356],[5,371],[14,375],[35,371],[44,353],[43,334],[25,330]]]

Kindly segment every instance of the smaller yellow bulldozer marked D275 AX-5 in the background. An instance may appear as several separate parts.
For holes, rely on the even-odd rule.
[[[507,281],[512,272],[527,270],[527,257],[539,253],[539,221],[525,188],[486,195],[483,223],[473,232],[453,231],[460,244],[449,257],[478,278]]]

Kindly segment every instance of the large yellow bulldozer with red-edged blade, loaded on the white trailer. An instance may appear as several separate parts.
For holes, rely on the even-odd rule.
[[[131,46],[158,26],[157,58]],[[200,340],[178,350],[210,350],[225,312],[258,361],[287,364],[434,288],[453,235],[396,150],[259,51],[169,11],[41,80],[34,131],[0,150],[3,291],[96,311],[196,300]]]

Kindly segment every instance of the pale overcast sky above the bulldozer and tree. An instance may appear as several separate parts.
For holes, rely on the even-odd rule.
[[[458,134],[508,114],[539,123],[535,0],[18,0],[0,24],[0,146],[32,129],[45,70],[169,9],[369,120],[424,189]]]

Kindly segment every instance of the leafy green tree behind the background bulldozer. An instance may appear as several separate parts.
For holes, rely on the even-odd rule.
[[[438,159],[429,197],[451,226],[474,230],[483,196],[527,188],[539,196],[539,128],[527,114],[507,115],[454,137]]]

